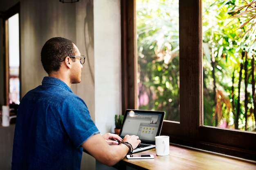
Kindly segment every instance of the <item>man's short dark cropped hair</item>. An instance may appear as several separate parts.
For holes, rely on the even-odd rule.
[[[41,50],[41,62],[47,74],[58,71],[65,57],[75,55],[73,44],[73,41],[62,37],[54,37],[46,41]]]

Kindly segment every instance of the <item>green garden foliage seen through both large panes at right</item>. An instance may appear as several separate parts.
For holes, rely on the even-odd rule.
[[[136,0],[138,107],[180,121],[178,0]],[[256,1],[203,0],[204,125],[256,131]]]

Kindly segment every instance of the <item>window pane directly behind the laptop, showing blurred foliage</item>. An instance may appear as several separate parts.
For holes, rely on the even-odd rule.
[[[139,109],[180,121],[179,0],[136,0]]]

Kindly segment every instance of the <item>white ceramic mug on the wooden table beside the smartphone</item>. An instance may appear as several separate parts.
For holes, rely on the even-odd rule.
[[[169,136],[156,136],[155,137],[155,150],[158,156],[169,155]]]

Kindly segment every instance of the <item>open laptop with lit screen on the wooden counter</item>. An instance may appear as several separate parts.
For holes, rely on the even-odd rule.
[[[132,153],[155,148],[155,136],[160,135],[164,114],[164,111],[135,109],[125,111],[119,136],[124,138],[125,135],[137,135],[141,140],[141,144],[134,148]]]

